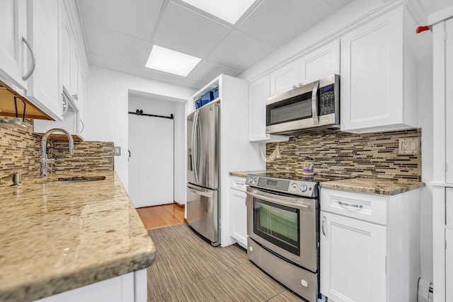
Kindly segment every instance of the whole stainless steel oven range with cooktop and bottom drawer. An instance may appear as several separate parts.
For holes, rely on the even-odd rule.
[[[319,181],[332,177],[249,174],[248,259],[306,301],[319,292]]]

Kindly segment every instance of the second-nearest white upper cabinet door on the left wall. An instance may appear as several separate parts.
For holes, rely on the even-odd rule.
[[[35,51],[36,67],[28,80],[27,96],[55,120],[62,120],[59,98],[59,1],[27,2],[28,39]]]

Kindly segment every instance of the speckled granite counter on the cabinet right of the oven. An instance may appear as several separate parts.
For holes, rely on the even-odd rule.
[[[385,180],[382,178],[351,178],[320,182],[321,187],[353,192],[396,195],[425,187],[425,182],[414,180]]]

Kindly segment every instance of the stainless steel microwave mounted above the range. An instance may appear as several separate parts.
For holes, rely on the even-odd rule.
[[[319,81],[266,99],[266,133],[340,126],[340,76]]]

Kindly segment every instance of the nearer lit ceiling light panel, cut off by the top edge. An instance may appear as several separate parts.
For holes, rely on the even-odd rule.
[[[231,24],[241,18],[255,0],[183,0]]]

